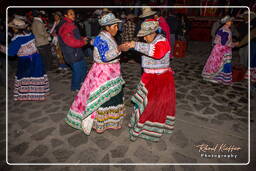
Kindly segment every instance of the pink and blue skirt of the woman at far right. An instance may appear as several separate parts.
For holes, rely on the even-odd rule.
[[[202,76],[204,80],[230,85],[232,83],[232,49],[216,44],[209,56]]]

